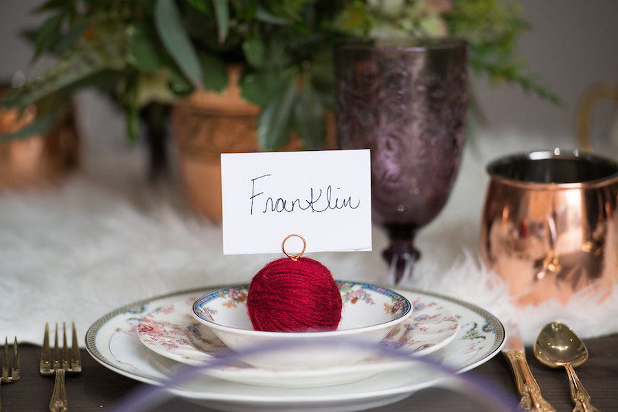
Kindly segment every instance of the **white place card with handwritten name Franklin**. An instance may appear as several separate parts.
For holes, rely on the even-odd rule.
[[[223,254],[371,250],[369,149],[222,154],[221,183]]]

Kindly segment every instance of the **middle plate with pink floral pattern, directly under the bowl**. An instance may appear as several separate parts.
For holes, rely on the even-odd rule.
[[[225,344],[192,316],[192,307],[198,298],[198,295],[190,296],[144,316],[137,326],[141,343],[158,354],[189,365],[203,365],[225,356]],[[382,341],[384,346],[424,356],[455,339],[459,321],[444,304],[428,296],[418,296],[411,304],[413,314],[389,333]],[[212,367],[207,372],[217,378],[250,385],[317,387],[354,382],[398,367],[404,365],[387,354],[376,354],[341,367],[277,371],[236,363]]]

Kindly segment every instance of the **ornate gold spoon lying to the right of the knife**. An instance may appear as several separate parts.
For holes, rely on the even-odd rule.
[[[590,395],[577,378],[575,369],[588,359],[584,342],[567,325],[551,322],[545,325],[534,343],[534,356],[549,367],[564,366],[569,374],[571,399],[575,403],[573,412],[600,412],[590,402]]]

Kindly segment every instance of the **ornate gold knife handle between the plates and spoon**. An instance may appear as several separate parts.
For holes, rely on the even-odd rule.
[[[513,369],[515,384],[521,396],[518,410],[525,412],[556,412],[556,409],[541,396],[540,387],[538,387],[536,379],[532,376],[524,352],[521,350],[507,350],[504,354],[511,365],[511,369]]]

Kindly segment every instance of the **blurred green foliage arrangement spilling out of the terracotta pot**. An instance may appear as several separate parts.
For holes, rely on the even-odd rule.
[[[295,131],[307,148],[320,148],[324,113],[334,110],[333,47],[350,36],[464,38],[473,71],[558,101],[517,58],[528,25],[501,0],[47,0],[33,13],[46,15],[26,33],[34,60],[56,60],[3,104],[96,87],[124,110],[130,138],[144,113],[196,88],[223,90],[227,65],[241,64],[242,96],[261,107],[262,147],[277,149]],[[48,107],[29,130],[5,138],[47,127],[61,106]]]

